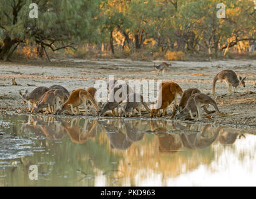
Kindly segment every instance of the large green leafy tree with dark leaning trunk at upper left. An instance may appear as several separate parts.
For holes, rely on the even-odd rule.
[[[78,42],[99,42],[101,0],[37,0],[38,19],[29,18],[31,0],[0,0],[0,60],[17,45],[32,42],[46,52]]]

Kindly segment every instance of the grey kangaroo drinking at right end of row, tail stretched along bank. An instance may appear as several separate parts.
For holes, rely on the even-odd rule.
[[[182,111],[180,111],[180,113],[175,116],[175,119],[185,119],[185,118],[188,118],[189,116],[192,119],[195,119],[195,118],[202,119],[200,108],[208,104],[214,106],[214,109],[216,113],[219,114],[219,116],[227,117],[227,116],[234,115],[234,114],[220,113],[219,108],[215,103],[214,99],[210,98],[210,96],[205,95],[204,93],[195,93],[194,95],[190,96],[185,108],[182,109]],[[195,118],[193,116],[194,113],[196,113]]]

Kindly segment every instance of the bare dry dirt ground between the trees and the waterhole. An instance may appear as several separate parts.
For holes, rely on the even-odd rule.
[[[222,118],[213,114],[202,123],[231,124],[235,126],[256,126],[256,61],[225,60],[214,62],[170,62],[172,66],[164,75],[154,70],[155,62],[135,62],[131,60],[79,60],[64,59],[31,61],[26,63],[0,62],[0,114],[6,111],[27,113],[27,104],[23,104],[19,91],[29,92],[37,86],[62,85],[72,91],[77,88],[94,86],[96,80],[107,80],[114,75],[117,80],[163,80],[175,81],[182,90],[198,88],[202,93],[215,99],[222,113],[238,113]],[[245,88],[238,87],[238,93],[227,93],[225,83],[217,82],[215,95],[212,93],[214,76],[224,69],[234,70],[244,77]],[[12,85],[15,78],[18,85]],[[169,106],[171,109],[172,106]],[[170,111],[169,111],[170,113]]]

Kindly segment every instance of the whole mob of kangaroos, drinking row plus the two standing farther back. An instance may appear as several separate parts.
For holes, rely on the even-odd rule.
[[[162,72],[169,65],[165,62],[155,66],[157,70]],[[232,70],[222,70],[215,75],[212,83],[212,94],[215,93],[215,84],[218,80],[225,81],[227,84],[227,91],[232,92],[237,90],[237,86],[245,87],[245,78],[239,76]],[[107,111],[112,112],[112,116],[131,117],[136,116],[134,109],[142,116],[143,112],[149,114],[150,118],[155,116],[165,116],[167,108],[174,101],[172,109],[173,119],[202,119],[201,108],[205,113],[217,113],[219,116],[226,117],[234,114],[221,113],[214,99],[210,96],[201,93],[197,88],[189,88],[185,91],[175,82],[166,81],[159,85],[159,96],[154,107],[149,108],[144,98],[139,93],[135,93],[125,81],[110,80],[107,84],[107,93],[109,95],[108,101],[99,106],[95,96],[97,90],[94,87],[89,87],[87,90],[82,88],[73,90],[71,94],[61,85],[52,85],[49,88],[46,86],[39,86],[31,93],[24,94],[19,91],[22,101],[28,104],[28,109],[31,114],[45,111],[53,114],[89,114],[91,105],[96,109],[96,116],[103,116]],[[180,101],[178,97],[180,96]],[[116,98],[117,97],[117,98]],[[121,106],[121,104],[124,104]],[[209,111],[207,107],[212,105],[214,110]],[[32,106],[32,107],[31,107]],[[144,106],[144,107],[142,107]],[[84,108],[84,109],[82,109]],[[162,114],[160,114],[162,110]]]

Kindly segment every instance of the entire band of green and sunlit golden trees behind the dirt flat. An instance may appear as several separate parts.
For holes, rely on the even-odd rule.
[[[222,19],[219,0],[0,0],[0,60],[17,49],[48,58],[58,50],[79,58],[255,57],[254,0],[221,2]]]

